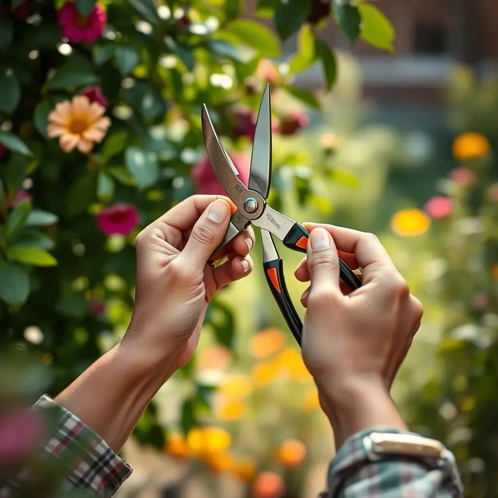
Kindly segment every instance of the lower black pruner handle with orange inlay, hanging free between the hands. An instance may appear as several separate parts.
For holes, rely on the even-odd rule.
[[[303,324],[297,314],[294,305],[289,296],[285,279],[283,276],[283,262],[281,259],[263,262],[264,276],[268,282],[268,287],[271,289],[273,298],[275,299],[280,311],[292,332],[292,335],[301,346],[301,337],[303,334]]]

